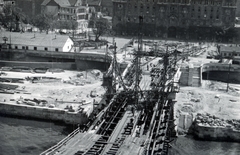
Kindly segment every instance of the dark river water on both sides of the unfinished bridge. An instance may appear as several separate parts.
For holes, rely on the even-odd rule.
[[[38,155],[73,129],[53,122],[0,116],[0,154]],[[240,155],[240,143],[198,141],[179,136],[171,144],[169,155]]]

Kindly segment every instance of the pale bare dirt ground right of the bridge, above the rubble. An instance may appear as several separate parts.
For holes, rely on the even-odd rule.
[[[223,119],[240,119],[240,86],[203,81],[201,87],[180,88],[175,108],[177,113],[209,113]]]

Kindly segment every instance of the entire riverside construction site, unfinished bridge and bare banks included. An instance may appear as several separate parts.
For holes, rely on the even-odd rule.
[[[103,50],[112,57],[104,72],[1,68],[1,113],[78,126],[41,155],[165,155],[178,135],[218,139],[205,127],[240,135],[240,86],[202,78],[204,64],[219,62],[207,59],[219,55],[215,44],[145,40],[139,33],[120,49],[113,42]],[[232,67],[239,74],[239,65]]]

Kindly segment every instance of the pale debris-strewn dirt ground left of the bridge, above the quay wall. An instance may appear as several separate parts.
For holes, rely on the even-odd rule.
[[[51,82],[24,80],[23,83],[9,83],[18,85],[14,94],[0,93],[0,102],[16,104],[21,99],[46,100],[46,105],[52,108],[64,109],[72,107],[74,111],[84,108],[84,111],[91,111],[93,102],[99,103],[105,90],[102,85],[102,73],[98,70],[84,72],[67,71],[43,73],[6,72],[1,78],[23,78],[26,77],[51,77],[56,78]]]

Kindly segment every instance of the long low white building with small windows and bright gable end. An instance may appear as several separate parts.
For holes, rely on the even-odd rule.
[[[19,33],[4,32],[1,34],[1,42],[4,43],[3,37],[7,37],[6,43],[11,49],[33,50],[33,51],[56,51],[56,52],[73,52],[73,40],[67,35],[45,34],[45,33]]]

